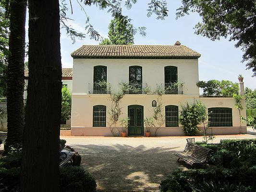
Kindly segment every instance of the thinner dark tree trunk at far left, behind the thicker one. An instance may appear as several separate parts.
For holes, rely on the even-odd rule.
[[[9,61],[7,68],[7,138],[5,153],[22,145],[24,130],[24,56],[26,1],[10,1]]]

